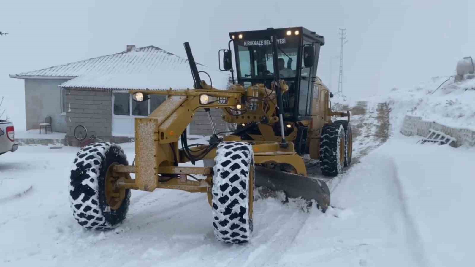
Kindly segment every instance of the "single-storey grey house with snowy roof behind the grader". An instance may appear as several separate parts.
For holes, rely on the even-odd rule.
[[[212,79],[212,86],[226,89],[227,73],[198,64]],[[128,90],[168,90],[193,88],[190,65],[186,58],[154,46],[135,48],[128,45],[120,53],[89,58],[64,65],[10,75],[25,80],[26,128],[38,129],[46,116],[52,117],[54,132],[66,133],[66,143],[77,145],[73,131],[86,127],[95,135],[115,143],[134,136],[134,119],[150,114],[164,100],[152,95],[143,103],[132,100]],[[201,76],[208,83],[208,76]],[[227,130],[213,109],[218,131]],[[195,114],[190,134],[212,134],[204,111]]]

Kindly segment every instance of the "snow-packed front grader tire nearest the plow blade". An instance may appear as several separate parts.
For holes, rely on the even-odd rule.
[[[224,243],[247,242],[253,229],[252,209],[249,209],[254,199],[252,146],[244,142],[222,142],[214,162],[214,235]]]

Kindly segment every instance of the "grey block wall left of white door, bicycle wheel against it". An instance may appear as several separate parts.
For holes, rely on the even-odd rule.
[[[87,138],[95,135],[112,141],[112,93],[105,90],[66,90],[66,144],[77,146],[73,131],[77,125],[87,129]],[[119,142],[117,142],[119,143]]]

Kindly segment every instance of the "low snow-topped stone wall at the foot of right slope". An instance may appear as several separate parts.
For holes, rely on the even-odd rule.
[[[404,135],[418,135],[426,137],[429,129],[448,134],[457,139],[455,146],[475,146],[475,131],[468,129],[447,127],[436,122],[423,121],[421,117],[406,115],[400,132]]]

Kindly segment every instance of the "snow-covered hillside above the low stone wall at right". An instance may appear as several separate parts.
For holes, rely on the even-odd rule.
[[[408,114],[449,127],[475,130],[475,79],[454,82],[453,77],[438,76],[410,90],[394,88],[389,96],[373,98],[390,104],[395,129],[400,129]]]

